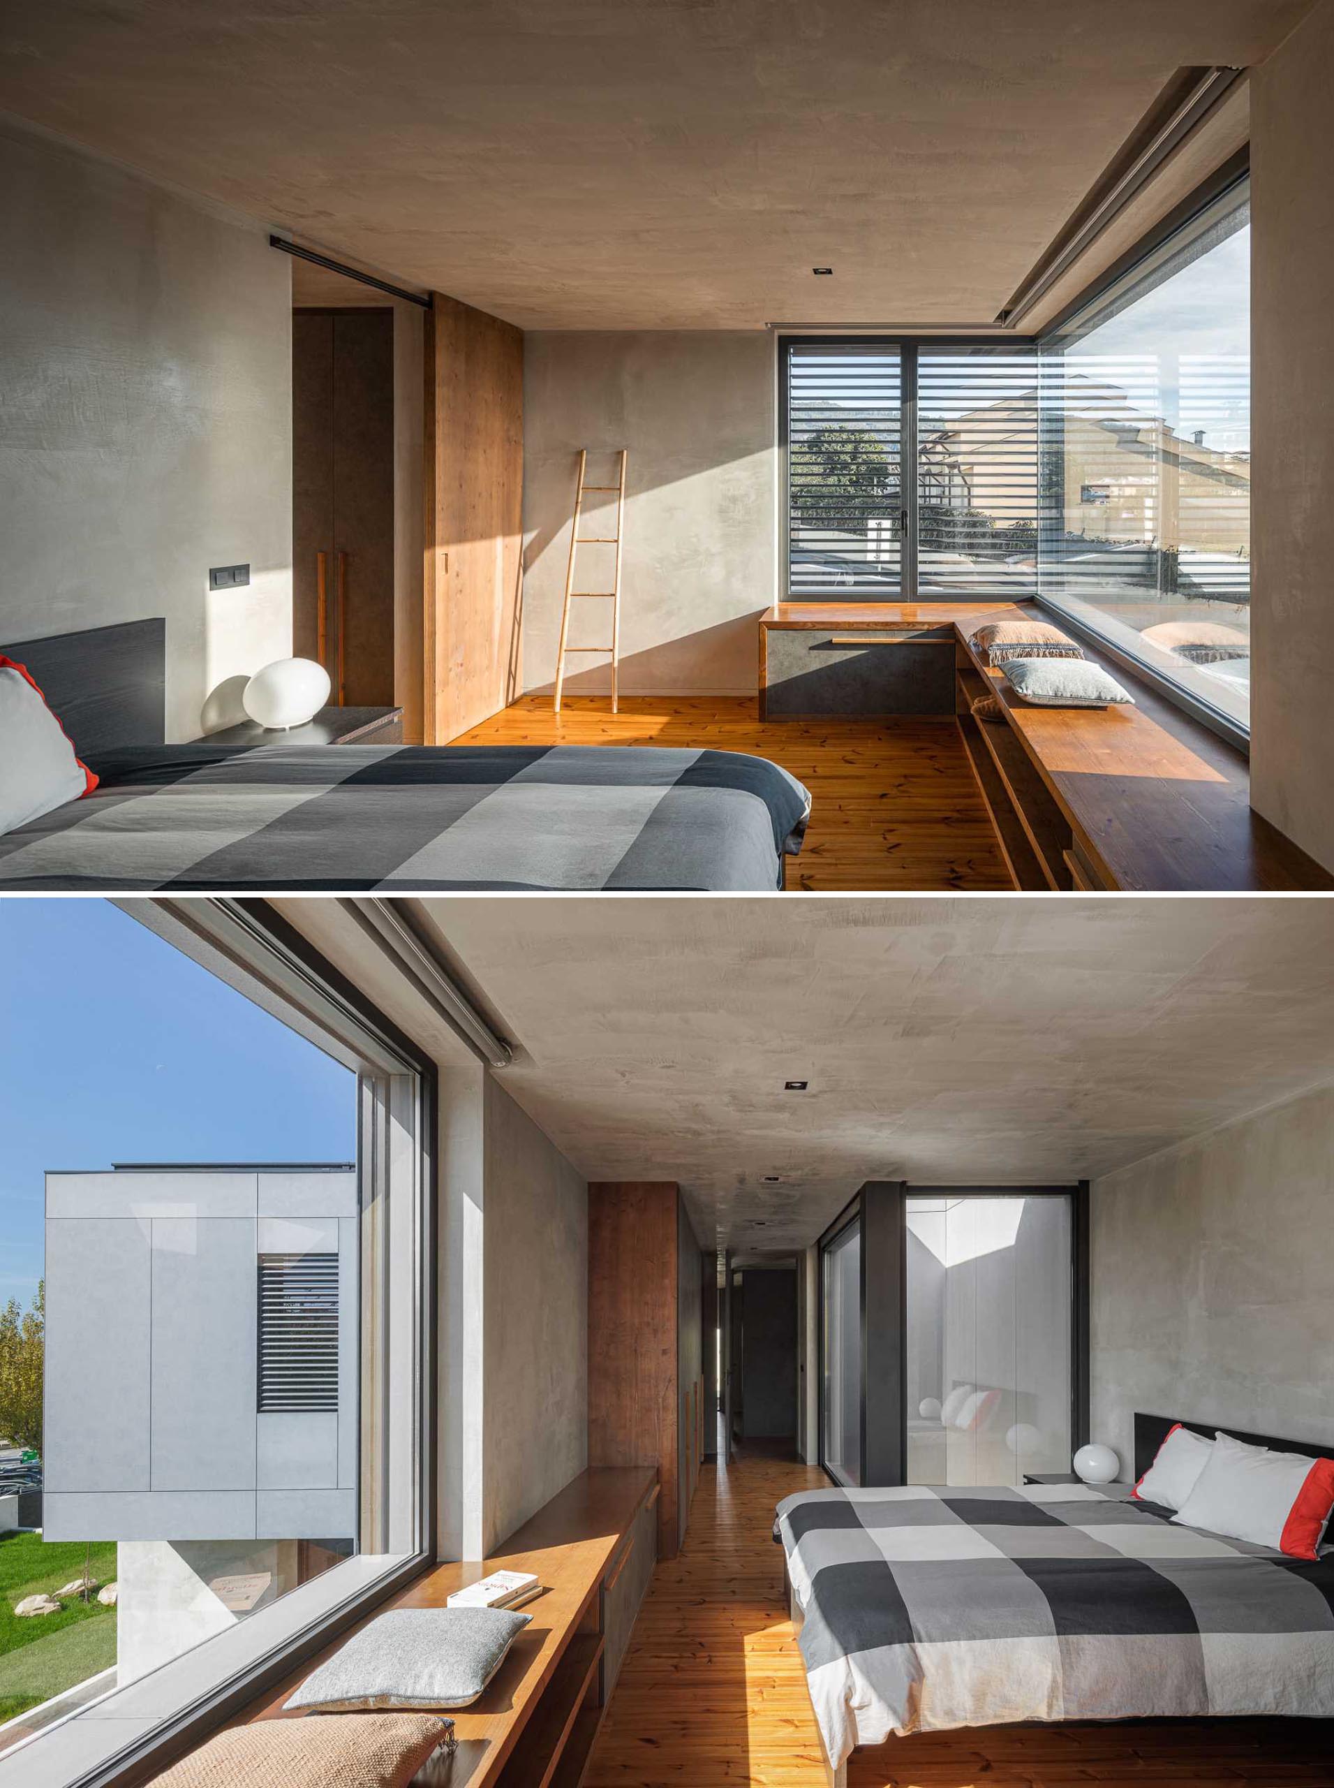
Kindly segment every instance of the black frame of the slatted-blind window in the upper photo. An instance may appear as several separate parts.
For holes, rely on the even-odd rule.
[[[1012,350],[1014,354],[1030,352],[1034,359],[1037,358],[1037,342],[1034,334],[1019,334],[1017,331],[996,333],[996,334],[898,334],[898,333],[878,333],[867,334],[865,331],[840,334],[837,329],[828,329],[819,334],[799,334],[796,331],[787,331],[778,334],[778,460],[781,470],[781,540],[780,540],[780,603],[810,603],[819,606],[821,603],[914,603],[923,608],[948,606],[950,603],[958,603],[960,594],[941,590],[928,592],[926,595],[917,594],[919,581],[919,485],[917,485],[917,356],[921,349],[941,349],[941,347],[989,347]],[[828,590],[792,590],[792,388],[789,375],[789,350],[794,347],[883,347],[894,349],[899,356],[899,515],[901,515],[901,556],[899,556],[899,588],[891,590],[873,590],[867,588],[862,594],[857,588],[848,590],[828,588]],[[1037,422],[1034,424],[1037,431]],[[1037,445],[1037,434],[1034,440]],[[1034,527],[1037,527],[1039,506],[1037,506],[1037,486],[1034,486]],[[1035,581],[1035,579],[1034,579]],[[1035,590],[1025,599],[1030,601]],[[1012,601],[1010,597],[996,597],[996,601]]]

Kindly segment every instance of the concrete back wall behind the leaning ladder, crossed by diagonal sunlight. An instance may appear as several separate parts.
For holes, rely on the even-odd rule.
[[[524,687],[545,690],[570,549],[581,447],[612,483],[626,447],[621,692],[742,696],[756,683],[755,617],[774,599],[774,349],[762,331],[529,333],[524,340]],[[610,533],[588,499],[587,535]],[[592,508],[597,504],[597,508]],[[610,590],[612,547],[579,554],[579,588]],[[581,603],[570,642],[610,638]],[[570,694],[610,688],[574,658]]]

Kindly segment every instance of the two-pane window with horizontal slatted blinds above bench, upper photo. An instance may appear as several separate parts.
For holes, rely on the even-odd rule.
[[[1032,595],[1032,343],[792,338],[781,374],[790,601]]]

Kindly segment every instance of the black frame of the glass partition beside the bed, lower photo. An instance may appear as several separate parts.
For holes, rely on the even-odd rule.
[[[867,1180],[817,1241],[819,1302],[815,1323],[821,1472],[837,1488],[840,1479],[824,1457],[824,1255],[853,1223],[862,1225],[862,1473],[858,1489],[907,1482],[908,1466],[908,1198],[1068,1198],[1071,1207],[1069,1303],[1069,1436],[1071,1455],[1089,1439],[1091,1395],[1091,1273],[1089,1182],[1048,1185],[916,1185],[907,1180]]]

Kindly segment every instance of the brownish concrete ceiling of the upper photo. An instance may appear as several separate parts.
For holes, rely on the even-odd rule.
[[[522,327],[960,325],[1307,9],[61,0],[5,7],[0,107]]]

